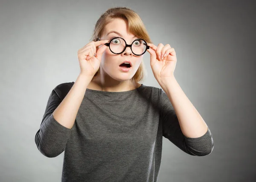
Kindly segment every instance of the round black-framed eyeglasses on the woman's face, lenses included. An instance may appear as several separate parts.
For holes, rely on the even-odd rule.
[[[143,39],[136,39],[131,45],[128,45],[121,37],[114,37],[109,43],[105,43],[105,46],[108,46],[113,54],[122,54],[127,47],[130,47],[132,53],[136,56],[141,56],[149,49],[148,44]]]

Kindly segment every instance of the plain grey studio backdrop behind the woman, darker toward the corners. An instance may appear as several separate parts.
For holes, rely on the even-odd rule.
[[[57,182],[63,154],[35,145],[52,89],[75,81],[77,51],[99,16],[126,6],[155,45],[177,53],[175,77],[207,122],[212,154],[189,156],[163,139],[159,182],[250,182],[256,179],[256,6],[241,0],[1,0],[0,182]],[[144,56],[148,77],[159,87]]]

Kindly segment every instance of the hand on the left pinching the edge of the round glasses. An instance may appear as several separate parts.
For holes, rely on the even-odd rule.
[[[108,42],[109,40],[92,41],[78,50],[80,74],[85,74],[88,77],[93,77],[96,74],[101,63],[102,54],[107,48],[104,44]],[[98,46],[100,47],[98,48]]]

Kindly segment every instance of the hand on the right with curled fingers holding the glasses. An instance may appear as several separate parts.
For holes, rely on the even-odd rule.
[[[169,44],[163,46],[162,43],[155,46],[148,43],[150,47],[147,51],[150,53],[150,65],[154,77],[158,82],[164,82],[169,77],[174,77],[174,70],[177,63],[176,52]]]

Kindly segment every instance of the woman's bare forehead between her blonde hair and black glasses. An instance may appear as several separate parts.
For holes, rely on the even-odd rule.
[[[116,18],[108,23],[103,31],[103,36],[107,36],[110,32],[116,31],[121,34],[123,37],[134,37],[134,34],[128,32],[128,23],[125,20]],[[114,34],[114,33],[111,33]]]

